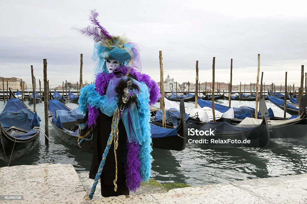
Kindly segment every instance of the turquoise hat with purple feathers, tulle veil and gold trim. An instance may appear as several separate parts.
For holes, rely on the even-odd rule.
[[[141,59],[140,52],[137,44],[131,42],[125,34],[122,36],[111,36],[110,33],[103,28],[97,20],[98,13],[96,10],[91,10],[89,19],[92,25],[85,28],[74,28],[79,31],[83,36],[89,37],[94,40],[94,50],[92,60],[97,61],[94,74],[107,70],[105,61],[115,59],[120,62],[121,67],[132,66],[134,70],[141,72]]]

